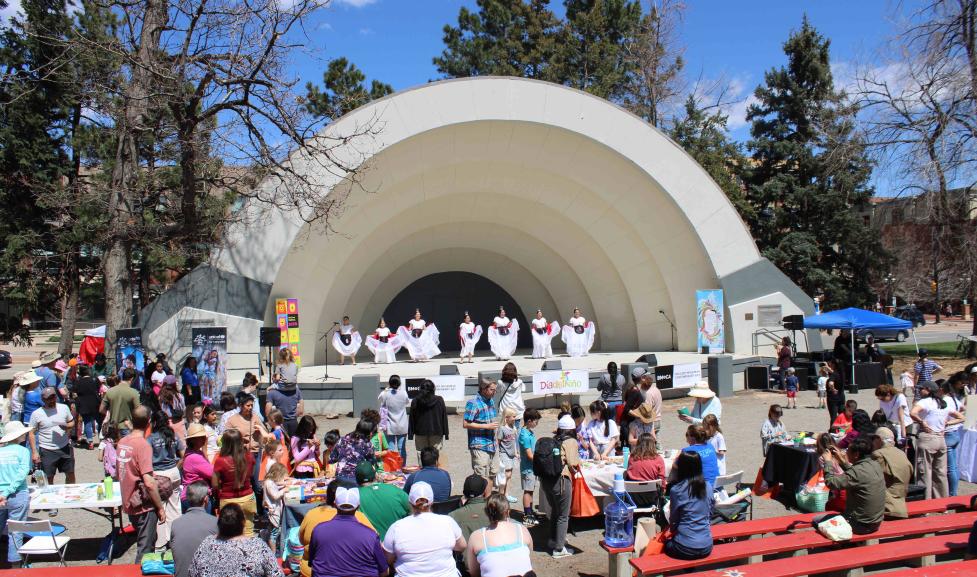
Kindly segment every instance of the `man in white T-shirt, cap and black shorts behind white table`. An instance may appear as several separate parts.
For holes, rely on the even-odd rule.
[[[64,473],[65,483],[75,482],[75,451],[71,447],[68,431],[75,426],[71,411],[58,402],[58,393],[51,387],[41,391],[44,405],[34,411],[30,418],[30,446],[34,464],[44,470],[49,484],[54,484],[54,475]],[[58,514],[51,509],[52,517]]]

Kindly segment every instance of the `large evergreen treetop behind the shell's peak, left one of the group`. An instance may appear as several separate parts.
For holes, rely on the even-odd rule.
[[[444,27],[445,49],[434,58],[449,78],[520,76],[558,81],[551,64],[559,19],[550,0],[478,0],[462,8],[458,26]]]

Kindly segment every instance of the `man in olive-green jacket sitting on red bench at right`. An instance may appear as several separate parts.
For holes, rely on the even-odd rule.
[[[852,533],[874,533],[885,512],[885,478],[882,467],[872,458],[872,441],[867,436],[857,437],[844,455],[838,447],[829,447],[828,451],[830,457],[824,459],[824,482],[829,489],[847,491],[844,517]],[[840,475],[829,466],[833,462],[841,465]]]

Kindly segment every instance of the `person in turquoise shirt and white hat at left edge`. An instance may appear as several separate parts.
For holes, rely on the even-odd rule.
[[[24,521],[30,508],[27,476],[31,471],[31,452],[21,445],[30,429],[13,421],[4,427],[0,437],[0,527],[8,520]],[[13,567],[20,564],[17,552],[24,544],[24,534],[10,532],[7,542],[7,561]]]

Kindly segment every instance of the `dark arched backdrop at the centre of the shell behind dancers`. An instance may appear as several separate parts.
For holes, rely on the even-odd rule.
[[[509,318],[519,320],[519,348],[533,348],[529,322],[515,299],[491,280],[469,272],[441,272],[428,275],[411,283],[400,291],[387,305],[383,318],[387,326],[396,330],[414,318],[414,309],[420,308],[424,320],[438,325],[441,331],[441,350],[458,351],[458,325],[464,320],[465,311],[472,322],[482,325],[484,334],[476,350],[489,350],[488,327],[492,324],[499,307],[505,307]],[[535,314],[535,310],[530,311]],[[543,311],[545,314],[547,311]],[[552,313],[551,313],[552,314]],[[373,327],[360,323],[360,331],[367,334]]]

